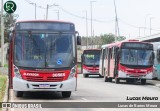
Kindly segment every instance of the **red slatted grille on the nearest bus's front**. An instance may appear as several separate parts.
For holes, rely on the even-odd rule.
[[[32,82],[61,82],[63,81],[63,77],[33,77],[26,76],[27,81]]]

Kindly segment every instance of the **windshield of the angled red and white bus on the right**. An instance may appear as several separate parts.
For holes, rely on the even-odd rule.
[[[122,49],[120,63],[126,65],[153,65],[152,50]]]

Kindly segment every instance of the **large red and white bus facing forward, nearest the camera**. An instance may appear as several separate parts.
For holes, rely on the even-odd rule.
[[[75,25],[62,21],[19,21],[10,35],[9,80],[16,97],[26,91],[60,91],[70,97],[77,87]]]

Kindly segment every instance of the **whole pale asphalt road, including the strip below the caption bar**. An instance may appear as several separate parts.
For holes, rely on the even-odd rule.
[[[78,89],[72,93],[70,98],[62,98],[60,92],[28,92],[22,98],[16,98],[13,90],[10,90],[10,102],[160,102],[160,88],[153,84],[140,83],[127,84],[121,81],[120,84],[113,82],[104,82],[103,78],[90,76],[83,78],[82,74],[78,75]],[[158,100],[127,100],[127,98],[156,97]],[[71,104],[72,105],[72,104]],[[94,105],[94,104],[93,104]],[[94,106],[93,106],[94,107]],[[55,109],[10,109],[11,111],[128,111],[135,108],[55,108]],[[138,111],[151,111],[151,108],[136,109]],[[153,111],[158,111],[154,109]]]

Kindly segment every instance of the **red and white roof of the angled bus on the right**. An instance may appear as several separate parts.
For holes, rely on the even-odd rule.
[[[110,44],[105,44],[105,45],[102,45],[101,48],[104,49],[106,47],[113,47],[113,46],[118,46],[120,47],[122,43],[124,42],[140,42],[139,40],[123,40],[123,41],[118,41],[118,42],[115,42],[115,43],[110,43]],[[148,42],[140,42],[140,43],[148,43]]]

